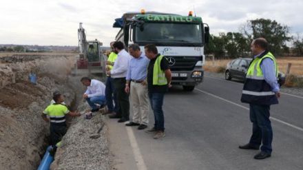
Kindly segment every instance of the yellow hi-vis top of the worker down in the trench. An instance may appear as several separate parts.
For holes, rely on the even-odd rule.
[[[65,114],[70,112],[65,105],[52,104],[46,107],[43,114],[50,116],[51,125],[65,125]]]

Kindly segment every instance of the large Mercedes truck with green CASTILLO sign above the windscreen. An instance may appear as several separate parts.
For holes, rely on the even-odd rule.
[[[114,28],[120,28],[116,41],[127,45],[154,44],[165,56],[172,73],[172,85],[182,85],[193,91],[203,81],[204,47],[209,41],[209,26],[201,17],[163,12],[127,12],[115,19]]]

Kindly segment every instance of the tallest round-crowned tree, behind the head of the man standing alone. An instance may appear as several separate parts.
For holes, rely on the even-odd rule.
[[[269,42],[269,50],[273,54],[282,54],[287,41],[292,39],[289,36],[289,27],[281,25],[277,21],[271,19],[255,19],[247,21],[242,27],[242,34],[249,39],[263,37]],[[252,36],[251,36],[252,35]]]

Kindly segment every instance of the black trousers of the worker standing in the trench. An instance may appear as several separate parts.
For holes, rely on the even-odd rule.
[[[50,125],[50,145],[55,146],[66,134],[66,125]]]

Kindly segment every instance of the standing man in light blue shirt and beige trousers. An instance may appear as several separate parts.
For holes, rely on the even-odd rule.
[[[125,92],[132,98],[133,116],[132,121],[126,126],[138,126],[145,129],[148,125],[148,96],[147,96],[147,66],[149,59],[140,52],[137,44],[129,45],[128,52],[133,58],[129,61],[126,74]]]

